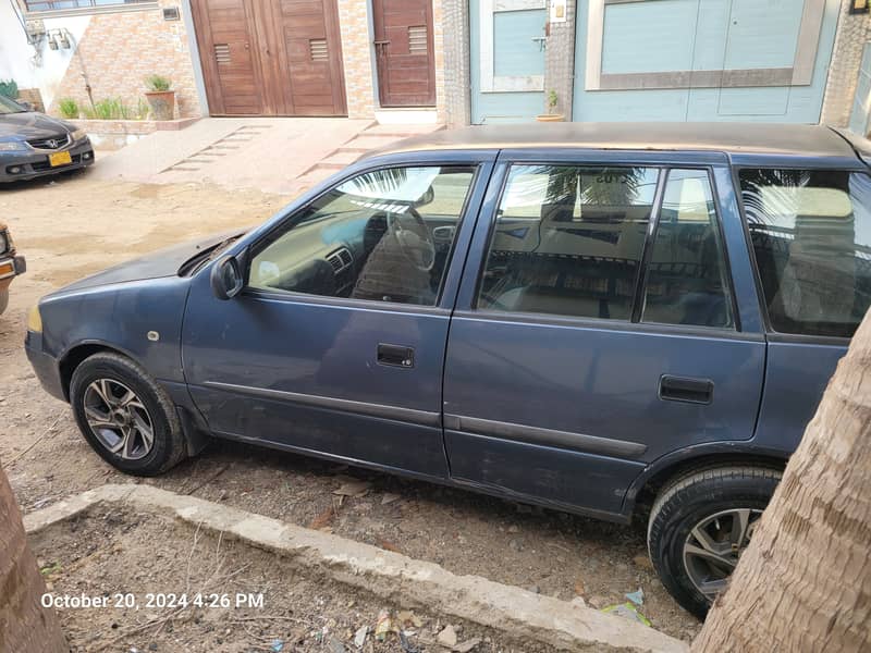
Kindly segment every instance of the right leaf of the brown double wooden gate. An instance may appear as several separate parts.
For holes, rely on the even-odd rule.
[[[335,0],[273,0],[270,59],[286,115],[343,115],[345,85]]]

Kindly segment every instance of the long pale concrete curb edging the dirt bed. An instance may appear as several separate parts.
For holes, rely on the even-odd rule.
[[[686,643],[658,630],[592,608],[479,576],[457,576],[432,563],[151,485],[102,485],[26,515],[24,526],[34,533],[101,503],[171,513],[182,521],[278,552],[291,565],[315,568],[382,599],[421,605],[561,650],[689,650]]]

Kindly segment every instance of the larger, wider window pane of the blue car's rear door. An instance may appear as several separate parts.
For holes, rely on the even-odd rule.
[[[478,307],[630,319],[658,175],[649,168],[512,167]]]

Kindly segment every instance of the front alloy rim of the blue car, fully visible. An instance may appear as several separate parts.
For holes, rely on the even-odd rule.
[[[85,390],[83,405],[90,430],[109,452],[138,460],[151,451],[151,416],[130,387],[114,379],[97,379]]]

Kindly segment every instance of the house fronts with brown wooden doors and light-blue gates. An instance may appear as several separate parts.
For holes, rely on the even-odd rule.
[[[867,132],[867,0],[13,0],[0,4],[0,79],[38,87],[49,109],[134,102],[157,73],[180,116],[463,125],[550,110]]]

